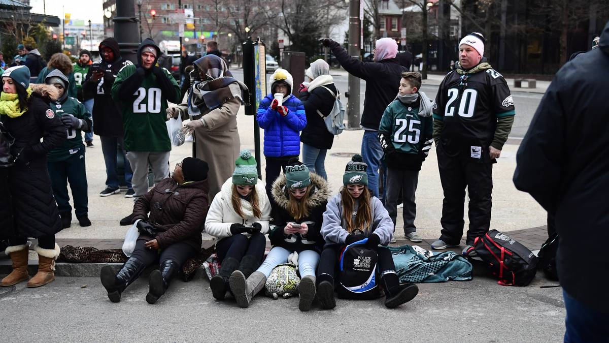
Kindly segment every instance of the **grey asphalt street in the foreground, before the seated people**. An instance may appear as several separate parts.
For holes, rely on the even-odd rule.
[[[418,296],[396,309],[382,299],[337,300],[333,310],[298,311],[298,299],[258,295],[248,309],[216,301],[202,275],[174,281],[149,305],[147,275],[111,303],[99,278],[57,278],[27,289],[0,289],[6,342],[559,342],[565,309],[560,287],[540,274],[528,287],[485,277],[420,284]]]

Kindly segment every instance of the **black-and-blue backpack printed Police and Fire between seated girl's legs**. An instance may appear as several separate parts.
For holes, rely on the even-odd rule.
[[[381,297],[378,255],[364,245],[368,239],[347,245],[340,252],[337,293],[343,299],[375,299]]]

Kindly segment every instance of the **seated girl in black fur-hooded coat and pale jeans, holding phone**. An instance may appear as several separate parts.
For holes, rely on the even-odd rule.
[[[273,248],[264,263],[245,280],[245,275],[235,270],[230,277],[230,287],[237,303],[247,308],[277,265],[286,263],[291,253],[298,253],[298,270],[301,281],[298,286],[300,311],[309,311],[315,297],[315,269],[323,247],[323,211],[326,210],[330,189],[321,176],[309,173],[306,165],[292,159],[285,175],[273,182],[271,233]]]

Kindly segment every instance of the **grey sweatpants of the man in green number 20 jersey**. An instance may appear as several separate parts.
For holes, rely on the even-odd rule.
[[[135,197],[143,197],[148,193],[148,165],[152,167],[154,183],[169,177],[169,153],[161,151],[149,153],[147,151],[127,151],[127,159],[133,169],[131,184],[135,190]]]

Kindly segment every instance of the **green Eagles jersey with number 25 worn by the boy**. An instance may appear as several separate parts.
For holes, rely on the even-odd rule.
[[[395,99],[382,115],[379,133],[390,134],[393,148],[400,153],[418,154],[432,137],[432,117],[421,117],[418,104],[408,106]]]

